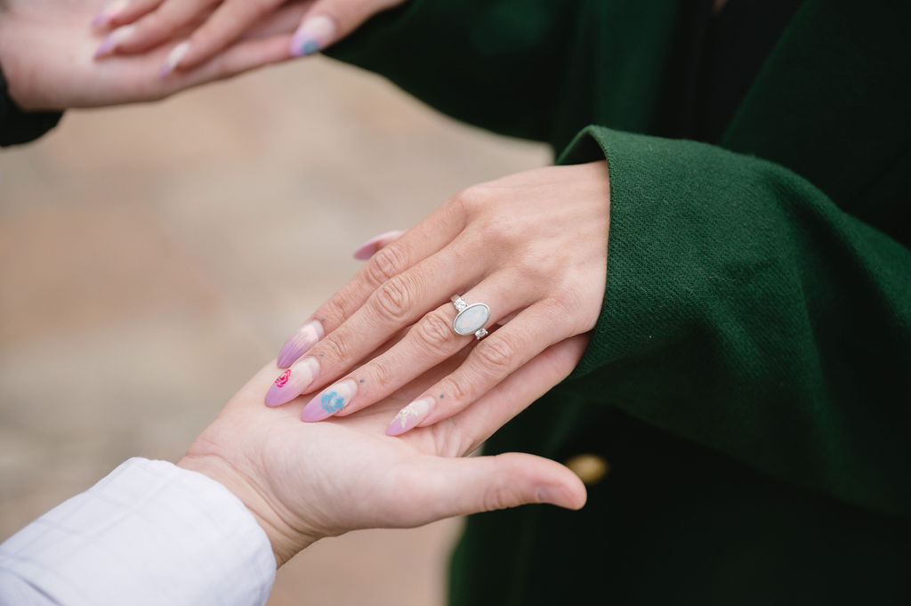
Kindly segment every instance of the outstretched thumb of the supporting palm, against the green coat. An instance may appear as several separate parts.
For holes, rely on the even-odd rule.
[[[426,500],[421,508],[433,512],[433,519],[528,503],[550,503],[568,509],[585,505],[582,481],[568,467],[548,458],[523,453],[438,457],[432,465],[435,469],[422,475],[421,494]]]

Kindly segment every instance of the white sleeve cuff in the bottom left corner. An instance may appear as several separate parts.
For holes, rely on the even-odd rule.
[[[275,558],[215,480],[131,458],[0,545],[0,605],[261,606]]]

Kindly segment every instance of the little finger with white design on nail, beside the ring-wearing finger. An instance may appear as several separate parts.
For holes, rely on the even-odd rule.
[[[386,434],[398,436],[430,426],[465,410],[548,346],[566,339],[565,316],[554,303],[538,302],[481,341],[455,372],[405,406]]]

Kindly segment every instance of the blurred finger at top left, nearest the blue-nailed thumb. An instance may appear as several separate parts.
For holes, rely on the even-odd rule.
[[[217,55],[271,14],[283,0],[227,0],[193,32],[187,40],[187,51],[171,67],[191,69]]]

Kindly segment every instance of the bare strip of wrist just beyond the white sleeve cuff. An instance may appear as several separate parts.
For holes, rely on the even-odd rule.
[[[280,568],[318,539],[287,524],[261,488],[224,458],[217,455],[187,454],[179,460],[177,466],[214,479],[241,500],[266,533],[276,567]]]

